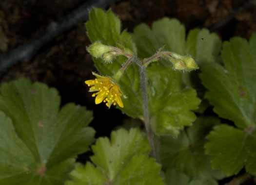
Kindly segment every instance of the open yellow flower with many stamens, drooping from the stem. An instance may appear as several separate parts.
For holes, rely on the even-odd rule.
[[[92,97],[96,96],[95,104],[99,104],[103,101],[110,108],[112,104],[116,105],[118,103],[119,107],[123,108],[123,102],[120,98],[123,96],[123,93],[115,80],[109,77],[100,76],[94,72],[93,75],[97,78],[95,80],[87,80],[85,81],[85,84],[91,86],[89,90],[90,92],[98,91],[92,95]]]

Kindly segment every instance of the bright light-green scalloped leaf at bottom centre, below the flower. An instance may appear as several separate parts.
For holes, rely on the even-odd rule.
[[[158,176],[161,167],[148,157],[147,138],[138,129],[114,131],[111,141],[101,137],[92,150],[96,167],[77,167],[66,185],[164,185]]]

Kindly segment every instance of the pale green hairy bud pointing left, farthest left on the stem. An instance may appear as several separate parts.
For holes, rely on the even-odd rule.
[[[86,49],[94,57],[101,57],[104,53],[113,51],[112,46],[106,46],[101,42],[95,42]]]

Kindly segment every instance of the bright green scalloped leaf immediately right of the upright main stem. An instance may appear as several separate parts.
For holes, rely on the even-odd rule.
[[[200,100],[194,89],[181,88],[181,73],[159,64],[147,68],[148,99],[152,129],[157,135],[177,136],[184,126],[191,125]]]

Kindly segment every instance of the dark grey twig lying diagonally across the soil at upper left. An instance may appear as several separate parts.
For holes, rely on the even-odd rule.
[[[79,22],[85,21],[88,18],[88,10],[92,7],[105,8],[112,2],[114,0],[89,0],[59,21],[51,23],[43,33],[0,57],[0,75],[21,60],[32,58],[40,48],[59,34],[71,29]]]

